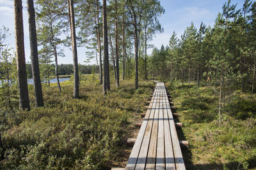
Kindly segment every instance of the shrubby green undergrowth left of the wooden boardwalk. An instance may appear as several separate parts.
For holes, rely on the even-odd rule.
[[[72,79],[72,78],[71,78]],[[33,86],[29,85],[31,111],[0,111],[4,150],[3,169],[110,169],[127,162],[131,147],[126,140],[136,132],[134,122],[153,87],[140,81],[138,90],[131,80],[111,82],[103,96],[97,77],[81,77],[80,99],[72,98],[73,83],[43,87],[45,107],[35,108]]]

